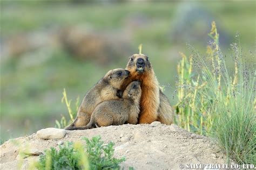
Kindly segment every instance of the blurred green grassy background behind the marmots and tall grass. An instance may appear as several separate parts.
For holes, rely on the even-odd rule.
[[[172,105],[179,52],[189,55],[188,43],[204,53],[213,20],[224,53],[237,31],[243,51],[255,52],[255,1],[114,2],[1,1],[1,140],[68,117],[63,88],[81,101],[139,44]]]

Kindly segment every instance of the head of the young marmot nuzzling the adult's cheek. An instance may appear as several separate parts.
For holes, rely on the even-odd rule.
[[[103,77],[114,88],[120,89],[130,71],[123,68],[112,69]]]

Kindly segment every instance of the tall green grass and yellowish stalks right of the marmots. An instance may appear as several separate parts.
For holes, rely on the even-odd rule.
[[[217,138],[228,158],[255,164],[255,69],[245,62],[238,41],[231,45],[234,70],[230,70],[214,22],[209,35],[213,41],[207,46],[207,57],[191,46],[189,61],[181,54],[175,121],[187,130]]]

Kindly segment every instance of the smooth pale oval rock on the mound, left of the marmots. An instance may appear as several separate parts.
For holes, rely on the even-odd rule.
[[[46,128],[37,131],[36,134],[37,137],[41,139],[62,139],[66,134],[66,130],[57,128]]]

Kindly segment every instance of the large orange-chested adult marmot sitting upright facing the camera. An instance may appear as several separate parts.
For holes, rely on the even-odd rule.
[[[140,100],[139,124],[150,124],[159,121],[166,125],[172,124],[173,109],[168,98],[159,88],[159,83],[149,58],[144,54],[134,54],[129,58],[126,68],[130,71],[126,84],[134,80],[139,80],[142,87],[142,97]]]

